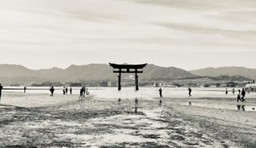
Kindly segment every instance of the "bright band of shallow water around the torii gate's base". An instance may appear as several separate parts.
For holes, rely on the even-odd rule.
[[[4,88],[20,88],[17,89],[4,89],[4,91],[13,92],[23,92],[23,87],[4,87]],[[70,87],[68,87],[70,88]],[[63,94],[63,87],[55,87],[55,94]],[[79,89],[81,87],[72,87],[73,94],[79,94]],[[134,87],[123,87],[121,91],[117,90],[117,87],[88,87],[90,94],[94,95],[96,98],[146,98],[153,99],[159,97],[159,88],[157,87],[140,87],[139,91],[135,91]],[[232,88],[228,88],[231,91]],[[237,90],[238,88],[236,88]],[[192,98],[236,98],[229,92],[228,95],[225,94],[225,88],[192,88]],[[27,93],[32,94],[50,94],[49,87],[27,87]],[[69,91],[68,91],[69,94]],[[162,95],[164,98],[188,98],[187,87],[162,87]],[[247,97],[256,97],[255,93],[248,94]]]

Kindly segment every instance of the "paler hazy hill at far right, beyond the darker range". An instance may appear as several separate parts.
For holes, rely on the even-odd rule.
[[[194,75],[199,76],[220,76],[220,75],[228,75],[228,76],[235,76],[241,75],[243,77],[248,77],[250,79],[256,78],[256,69],[249,69],[246,67],[218,67],[218,68],[205,68],[205,69],[198,69],[189,71]]]

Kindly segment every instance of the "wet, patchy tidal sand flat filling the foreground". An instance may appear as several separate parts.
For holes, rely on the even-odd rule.
[[[256,147],[256,112],[233,98],[78,97],[3,94],[0,147]]]

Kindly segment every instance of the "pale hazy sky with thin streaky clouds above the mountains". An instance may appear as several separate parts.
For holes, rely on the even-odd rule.
[[[255,0],[1,0],[0,64],[256,68]]]

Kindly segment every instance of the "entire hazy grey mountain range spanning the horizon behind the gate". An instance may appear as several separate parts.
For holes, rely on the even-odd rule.
[[[131,74],[123,73],[122,78]],[[185,71],[176,67],[159,67],[147,65],[139,79],[197,79],[208,77],[213,80],[249,80],[255,79],[256,69],[245,67],[219,67]],[[117,73],[108,64],[71,65],[67,69],[32,70],[22,65],[0,65],[0,81],[30,82],[30,81],[89,81],[117,80]]]

